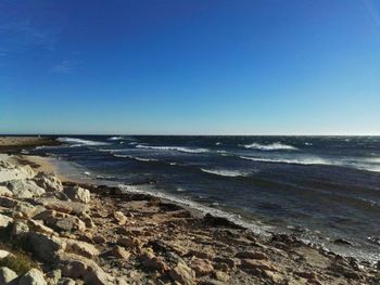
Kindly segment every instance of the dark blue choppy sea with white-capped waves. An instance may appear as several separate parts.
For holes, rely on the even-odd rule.
[[[380,260],[380,137],[60,137],[38,147],[100,184],[148,191]],[[259,225],[257,225],[259,221]],[[342,238],[352,245],[340,245]]]

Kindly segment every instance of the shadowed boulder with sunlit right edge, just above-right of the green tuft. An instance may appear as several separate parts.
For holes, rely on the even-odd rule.
[[[29,232],[26,246],[35,256],[43,261],[56,261],[58,255],[66,248],[66,243],[55,236]]]

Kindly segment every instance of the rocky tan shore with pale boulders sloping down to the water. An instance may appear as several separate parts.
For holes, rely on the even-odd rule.
[[[0,154],[2,284],[380,284],[375,265]]]

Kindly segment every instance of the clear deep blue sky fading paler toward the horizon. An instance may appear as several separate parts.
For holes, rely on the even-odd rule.
[[[380,134],[380,1],[0,0],[0,133]]]

